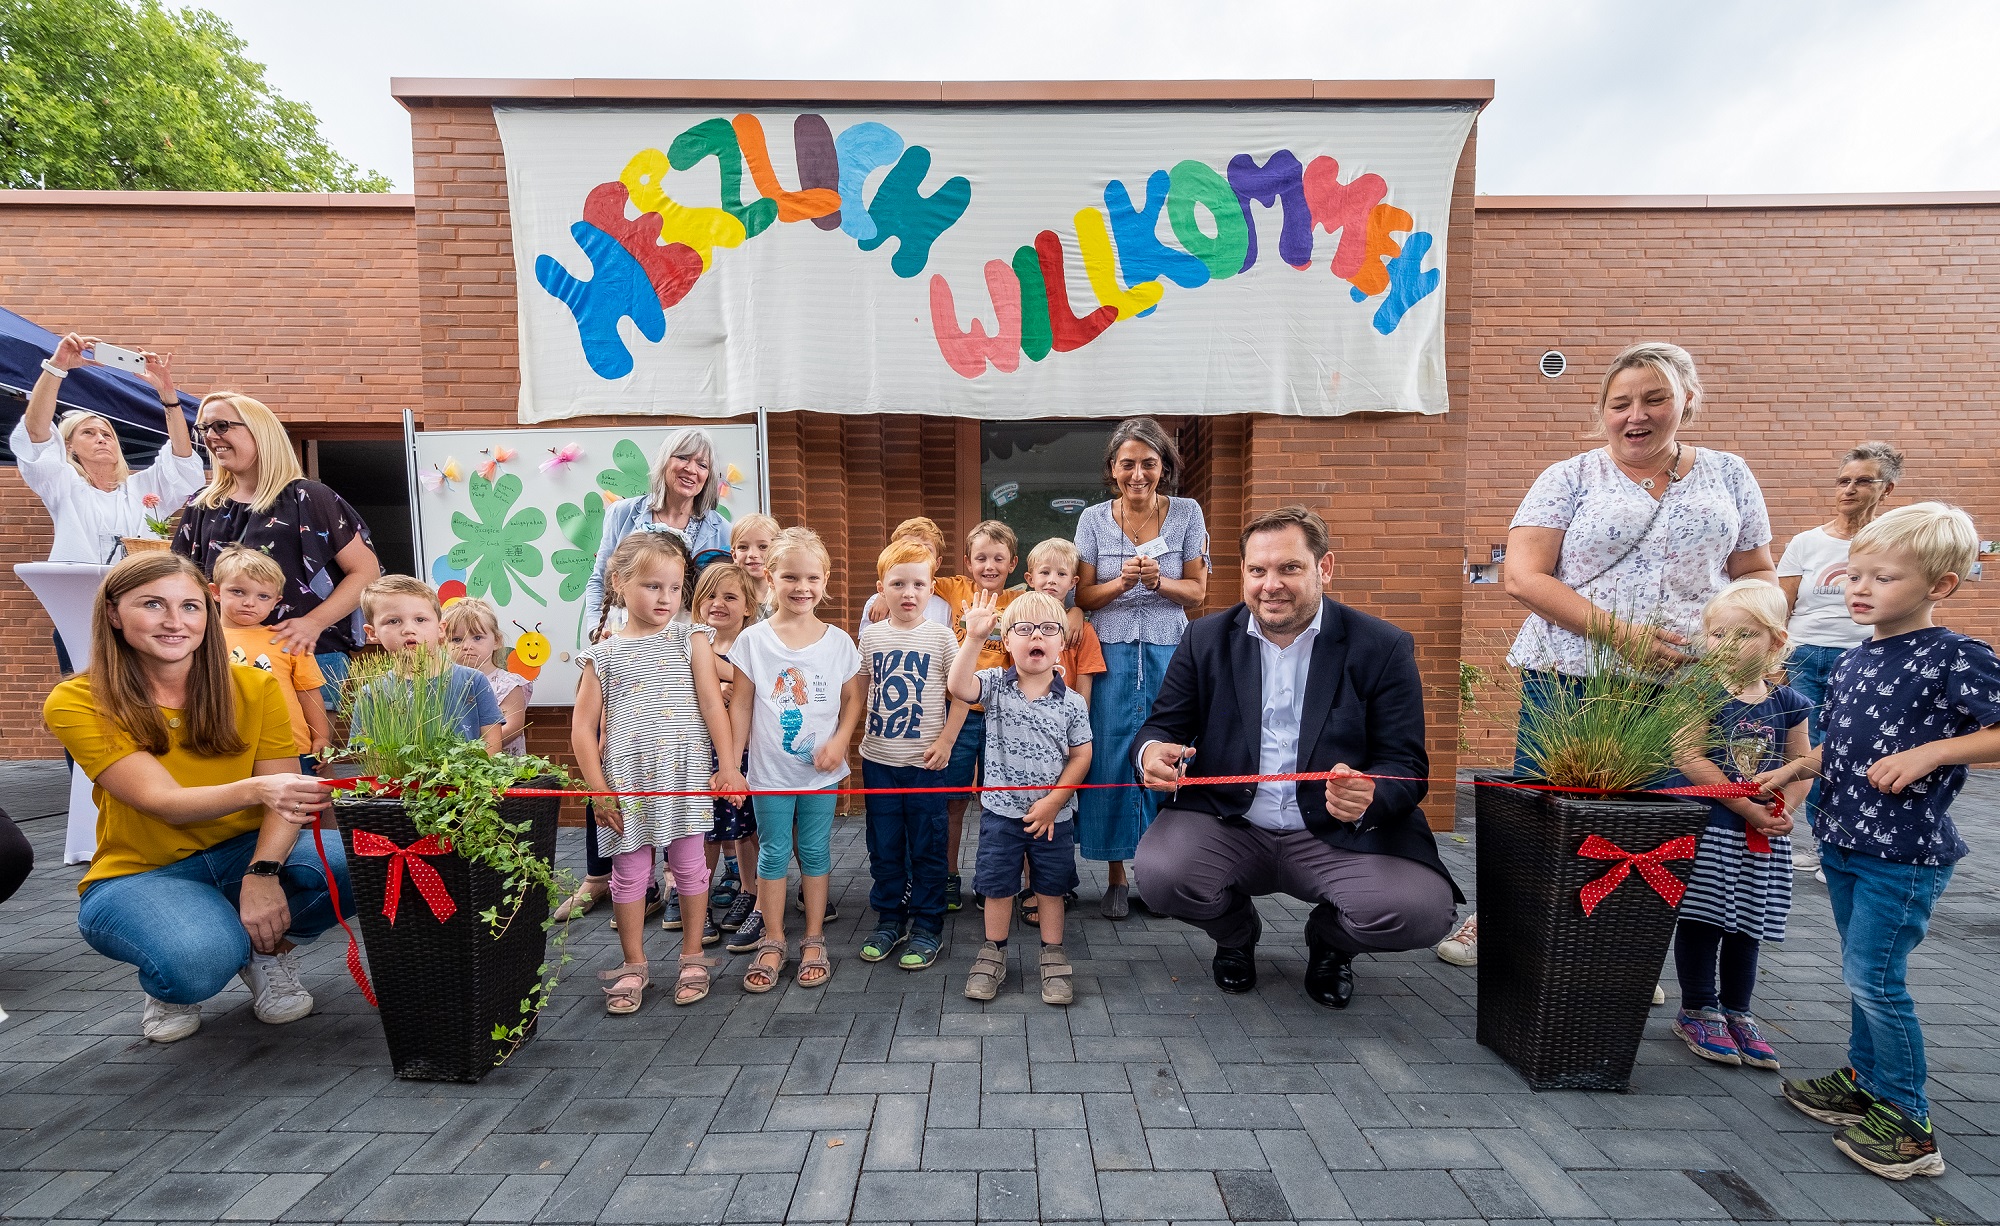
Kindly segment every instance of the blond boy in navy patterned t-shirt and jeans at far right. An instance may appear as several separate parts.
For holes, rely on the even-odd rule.
[[[1920,502],[1892,510],[1848,550],[1848,616],[1874,638],[1826,684],[1820,748],[1758,776],[1766,788],[1818,772],[1826,892],[1840,928],[1840,978],[1854,998],[1848,1064],[1784,1084],[1814,1120],[1846,1124],[1834,1144],[1892,1180],[1944,1174],[1924,1098],[1924,1032],[1906,984],[1910,950],[1966,854],[1946,812],[1968,762],[2000,760],[2000,660],[1932,624],[1978,556],[1972,518]]]

